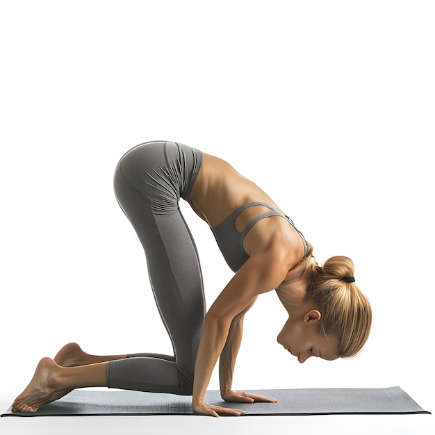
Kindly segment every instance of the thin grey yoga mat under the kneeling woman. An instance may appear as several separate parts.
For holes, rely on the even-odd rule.
[[[276,403],[223,402],[219,391],[207,391],[206,402],[243,409],[246,416],[300,416],[322,414],[410,414],[429,413],[414,402],[402,388],[306,388],[290,390],[249,390],[274,397]],[[121,416],[195,415],[191,396],[139,391],[74,390],[36,413],[12,412],[6,416]]]

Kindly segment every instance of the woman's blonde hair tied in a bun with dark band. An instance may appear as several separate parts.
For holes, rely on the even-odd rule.
[[[354,263],[347,256],[332,256],[320,267],[307,243],[304,279],[306,298],[312,300],[322,314],[320,330],[338,340],[341,358],[352,358],[361,352],[372,324],[368,297],[354,282]]]

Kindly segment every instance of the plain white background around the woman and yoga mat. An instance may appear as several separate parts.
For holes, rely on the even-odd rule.
[[[131,147],[174,140],[256,181],[319,262],[350,256],[372,302],[360,356],[301,365],[276,343],[283,307],[261,296],[234,387],[399,385],[435,411],[434,12],[432,1],[1,1],[3,408],[69,341],[172,351],[112,177]],[[186,205],[210,306],[231,271]]]

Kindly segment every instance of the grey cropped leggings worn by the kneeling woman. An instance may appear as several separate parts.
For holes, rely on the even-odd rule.
[[[174,356],[129,354],[110,361],[109,388],[191,395],[205,301],[197,249],[181,215],[202,163],[201,151],[174,142],[147,142],[121,158],[117,201],[145,249],[151,288]]]

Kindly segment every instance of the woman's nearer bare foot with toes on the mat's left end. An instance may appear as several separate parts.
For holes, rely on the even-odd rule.
[[[59,390],[56,375],[62,370],[52,359],[43,358],[39,362],[30,384],[15,399],[13,411],[35,412],[42,405],[60,399],[69,390]]]

